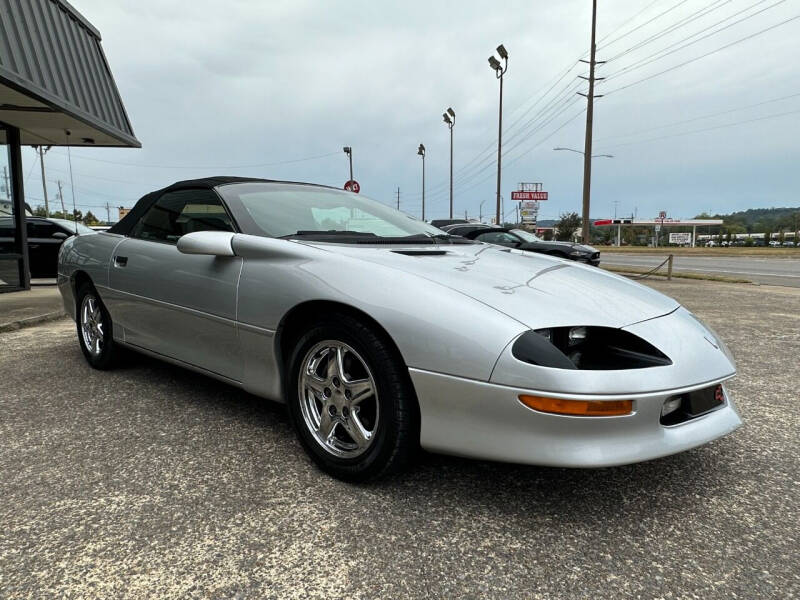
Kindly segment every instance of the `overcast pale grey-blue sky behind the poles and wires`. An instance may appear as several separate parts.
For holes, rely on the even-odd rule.
[[[589,47],[590,0],[72,3],[100,30],[142,143],[72,152],[79,208],[100,218],[106,202],[131,206],[198,176],[340,187],[345,145],[363,194],[395,202],[399,186],[401,209],[419,215],[420,143],[426,216],[446,217],[448,106],[456,213],[477,216],[485,201],[493,214],[499,86],[487,58],[499,43],[510,54],[505,211],[524,181],[550,193],[540,218],[580,212],[582,156],[553,148],[583,149],[586,102],[574,92],[586,87],[576,77],[586,74],[577,60]],[[800,15],[800,0],[599,4],[597,58],[609,62],[598,67],[608,79],[597,89],[607,96],[595,105],[594,152],[614,158],[594,160],[592,217],[611,215],[615,201],[618,214],[639,217],[800,205],[800,18],[783,23]],[[35,205],[39,170],[31,149],[24,157]],[[52,195],[53,181],[69,181],[66,149],[52,149],[46,166]]]

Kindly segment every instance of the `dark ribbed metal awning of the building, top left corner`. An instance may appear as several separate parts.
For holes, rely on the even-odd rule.
[[[141,147],[100,39],[66,0],[0,0],[0,122],[23,145]]]

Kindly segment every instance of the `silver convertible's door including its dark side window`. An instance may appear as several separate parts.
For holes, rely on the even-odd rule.
[[[204,230],[234,231],[213,190],[162,194],[111,257],[111,314],[126,343],[241,381],[242,259],[182,254],[176,245],[182,235]]]

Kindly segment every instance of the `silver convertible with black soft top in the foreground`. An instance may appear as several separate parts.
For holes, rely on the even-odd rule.
[[[67,240],[58,285],[90,365],[133,349],[285,402],[351,481],[420,447],[603,467],[741,424],[733,358],[675,300],[324,186],[176,183]]]

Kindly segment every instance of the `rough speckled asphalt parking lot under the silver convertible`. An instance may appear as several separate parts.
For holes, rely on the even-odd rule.
[[[745,426],[603,470],[320,473],[283,407],[66,320],[0,334],[0,598],[800,595],[800,289],[651,284],[728,342]]]

